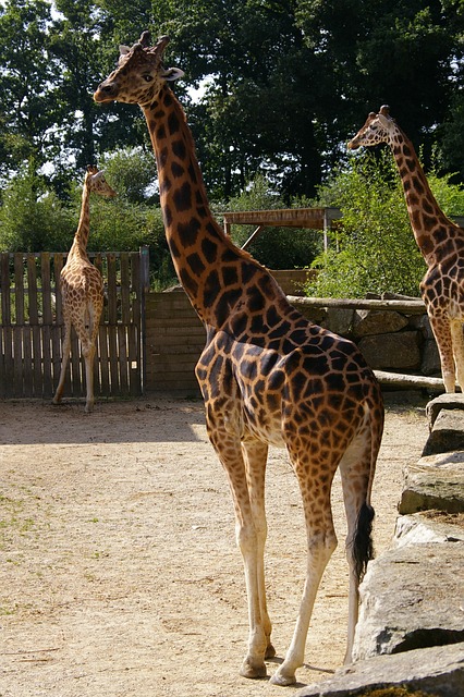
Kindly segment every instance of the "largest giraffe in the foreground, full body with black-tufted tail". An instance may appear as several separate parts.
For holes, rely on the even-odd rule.
[[[340,466],[347,517],[350,620],[346,660],[357,621],[358,584],[371,555],[370,491],[383,407],[378,383],[353,343],[309,322],[272,276],[237,249],[212,218],[181,105],[167,82],[169,41],[149,34],[121,48],[119,68],[100,84],[97,102],[138,103],[158,164],[166,234],[176,273],[205,323],[196,376],[209,439],[229,478],[248,597],[249,640],[241,674],[266,675],[274,656],[266,604],[265,470],[269,444],[286,448],[296,474],[307,533],[307,570],[294,636],[271,682],[295,682],[303,665],[313,604],[335,546],[330,505]]]

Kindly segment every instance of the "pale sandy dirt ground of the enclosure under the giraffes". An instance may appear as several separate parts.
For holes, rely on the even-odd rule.
[[[374,487],[377,553],[389,543],[402,469],[427,438],[425,402],[387,405]],[[267,578],[278,657],[293,632],[305,568],[297,485],[271,450]],[[294,695],[343,660],[347,566],[329,563],[296,688],[247,681],[242,560],[225,476],[203,404],[152,396],[0,403],[0,696]]]

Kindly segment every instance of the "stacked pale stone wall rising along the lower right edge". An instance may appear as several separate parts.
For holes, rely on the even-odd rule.
[[[361,586],[353,663],[300,697],[407,687],[464,697],[464,395],[427,406],[430,435],[405,470],[393,546]],[[376,693],[381,694],[381,693]]]

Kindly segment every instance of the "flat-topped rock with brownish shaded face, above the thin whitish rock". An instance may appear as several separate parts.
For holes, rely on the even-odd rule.
[[[406,469],[399,504],[401,514],[437,509],[464,512],[464,452],[420,457]]]

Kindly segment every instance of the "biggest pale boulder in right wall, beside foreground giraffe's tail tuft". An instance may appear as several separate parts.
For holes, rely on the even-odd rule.
[[[405,546],[370,562],[353,660],[464,641],[464,542]]]

